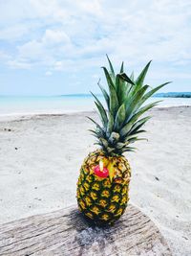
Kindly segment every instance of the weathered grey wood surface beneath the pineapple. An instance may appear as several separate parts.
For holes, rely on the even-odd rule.
[[[172,255],[159,229],[129,205],[113,227],[94,227],[75,207],[0,225],[3,256]]]

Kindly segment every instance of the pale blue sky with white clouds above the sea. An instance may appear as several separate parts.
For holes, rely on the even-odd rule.
[[[0,0],[0,95],[98,93],[106,54],[191,91],[191,1]]]

